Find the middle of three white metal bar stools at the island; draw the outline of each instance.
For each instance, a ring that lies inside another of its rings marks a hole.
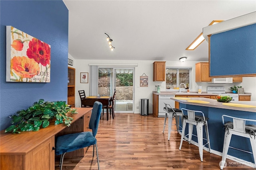
[[[211,153],[211,147],[210,147],[210,138],[209,138],[209,131],[208,131],[208,117],[204,116],[204,113],[202,111],[195,111],[195,110],[189,110],[181,108],[182,113],[184,115],[183,125],[182,125],[182,135],[180,138],[180,150],[182,147],[182,142],[184,139],[184,133],[186,129],[186,123],[188,123],[188,142],[191,142],[192,139],[192,133],[193,133],[193,126],[196,125],[196,133],[197,133],[197,139],[198,139],[198,148],[199,148],[199,154],[200,154],[200,160],[203,161],[203,147],[208,144],[209,152]],[[184,111],[187,111],[187,115],[184,114]],[[200,115],[196,115],[200,114]],[[205,132],[206,132],[206,139],[203,138],[203,126],[205,126]],[[196,136],[196,135],[195,135]],[[207,143],[203,145],[203,139],[207,140]]]

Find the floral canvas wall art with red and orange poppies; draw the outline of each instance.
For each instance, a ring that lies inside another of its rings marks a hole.
[[[6,26],[6,82],[50,82],[51,47]]]

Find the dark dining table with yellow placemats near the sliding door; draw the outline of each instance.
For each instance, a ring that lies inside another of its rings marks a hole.
[[[107,121],[108,121],[108,107],[110,106],[112,96],[86,96],[81,101],[82,106],[92,107],[94,102],[98,101],[102,103],[102,106],[107,107]]]

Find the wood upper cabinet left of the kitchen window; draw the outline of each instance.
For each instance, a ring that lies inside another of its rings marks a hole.
[[[154,73],[153,73],[153,81],[165,81],[165,61],[155,61],[154,65]]]

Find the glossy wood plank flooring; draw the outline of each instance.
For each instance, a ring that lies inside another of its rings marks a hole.
[[[203,151],[200,161],[198,147],[184,141],[179,150],[180,134],[171,132],[168,141],[168,121],[164,134],[164,118],[133,113],[116,113],[106,121],[106,114],[100,120],[96,135],[101,170],[220,170],[221,156]],[[172,123],[172,129],[176,129]],[[97,170],[96,152],[92,157],[90,147],[84,157],[64,156],[62,170]],[[59,158],[56,158],[55,170]],[[233,162],[227,160],[227,162]],[[228,170],[255,170],[239,165],[227,166]]]

